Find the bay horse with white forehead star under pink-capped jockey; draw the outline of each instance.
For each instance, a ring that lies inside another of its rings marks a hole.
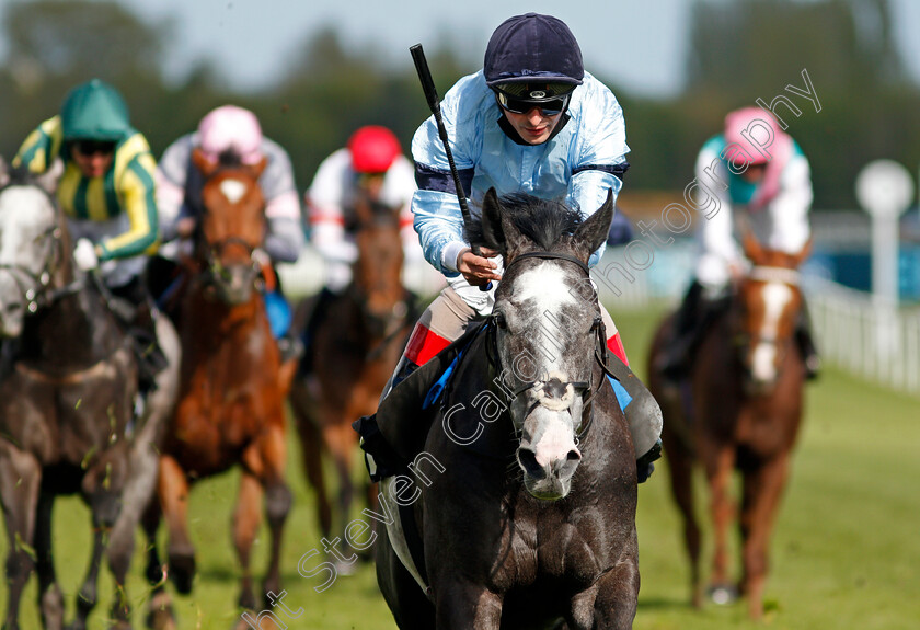
[[[263,593],[280,593],[281,530],[291,503],[284,477],[284,401],[296,363],[280,363],[256,290],[263,276],[273,277],[262,268],[260,256],[253,255],[266,232],[265,199],[258,186],[265,160],[244,165],[232,156],[221,156],[220,163],[214,164],[196,150],[193,161],[206,180],[205,211],[194,254],[184,263],[186,284],[177,297],[182,379],[158,488],[169,528],[169,576],[181,593],[191,591],[195,575],[186,523],[191,483],[239,465],[242,478],[233,514],[233,542],[243,571],[239,605],[253,610],[250,552],[261,523],[263,494],[272,535]],[[145,524],[151,546],[148,577],[158,584],[149,622],[161,628],[170,627],[172,609],[162,588],[156,548],[160,515],[154,512]]]

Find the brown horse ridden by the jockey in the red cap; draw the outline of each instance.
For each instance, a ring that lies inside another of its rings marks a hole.
[[[335,466],[336,517],[344,527],[355,494],[352,477],[358,453],[352,423],[377,410],[415,319],[401,277],[399,208],[360,198],[355,213],[358,259],[352,284],[332,298],[313,327],[312,352],[304,357],[312,368],[295,380],[290,394],[307,478],[318,495],[320,529],[327,540],[333,532],[333,509],[322,456],[331,457]],[[308,306],[303,302],[295,319],[306,319]],[[372,502],[370,489],[368,497]]]

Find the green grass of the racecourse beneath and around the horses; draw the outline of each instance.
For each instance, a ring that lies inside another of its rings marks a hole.
[[[617,313],[637,374],[659,311]],[[795,454],[792,481],[772,542],[763,625],[790,630],[908,630],[920,628],[920,400],[885,391],[827,368],[809,386],[807,413]],[[283,561],[285,604],[301,616],[289,628],[393,629],[378,594],[372,566],[340,576],[317,593],[323,579],[304,579],[298,559],[320,548],[298,455],[291,453],[289,480],[295,492]],[[688,570],[677,511],[670,503],[666,471],[640,486],[637,527],[642,591],[636,630],[720,630],[756,628],[745,606],[702,611],[687,606]],[[230,543],[234,473],[207,480],[192,494],[191,519],[198,549],[195,592],[176,597],[181,629],[227,630],[235,609],[238,569]],[[704,499],[700,515],[705,519]],[[72,594],[88,562],[89,513],[76,499],[59,501],[55,515],[56,561],[72,614]],[[5,538],[3,543],[5,554]],[[257,566],[265,564],[267,535],[258,540]],[[317,557],[319,558],[319,557]],[[314,558],[308,564],[319,563]],[[138,557],[129,597],[142,627],[147,586]],[[102,581],[104,600],[91,628],[105,628],[111,580]],[[22,627],[39,628],[35,581],[26,593]],[[5,610],[5,591],[0,595]],[[69,616],[68,616],[69,617]]]

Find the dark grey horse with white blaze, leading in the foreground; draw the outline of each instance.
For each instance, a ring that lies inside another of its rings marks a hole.
[[[469,238],[504,257],[494,310],[461,337],[421,453],[380,483],[377,575],[401,629],[632,627],[635,455],[587,266],[612,216],[611,196],[582,220],[557,202],[485,195]],[[381,433],[411,413],[390,405],[426,366],[381,402]],[[406,562],[410,530],[422,549]]]

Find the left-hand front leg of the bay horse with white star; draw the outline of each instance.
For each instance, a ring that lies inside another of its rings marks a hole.
[[[169,455],[160,457],[157,494],[169,531],[169,574],[183,595],[192,592],[195,579],[195,548],[187,525],[189,492],[188,479],[179,461]]]

